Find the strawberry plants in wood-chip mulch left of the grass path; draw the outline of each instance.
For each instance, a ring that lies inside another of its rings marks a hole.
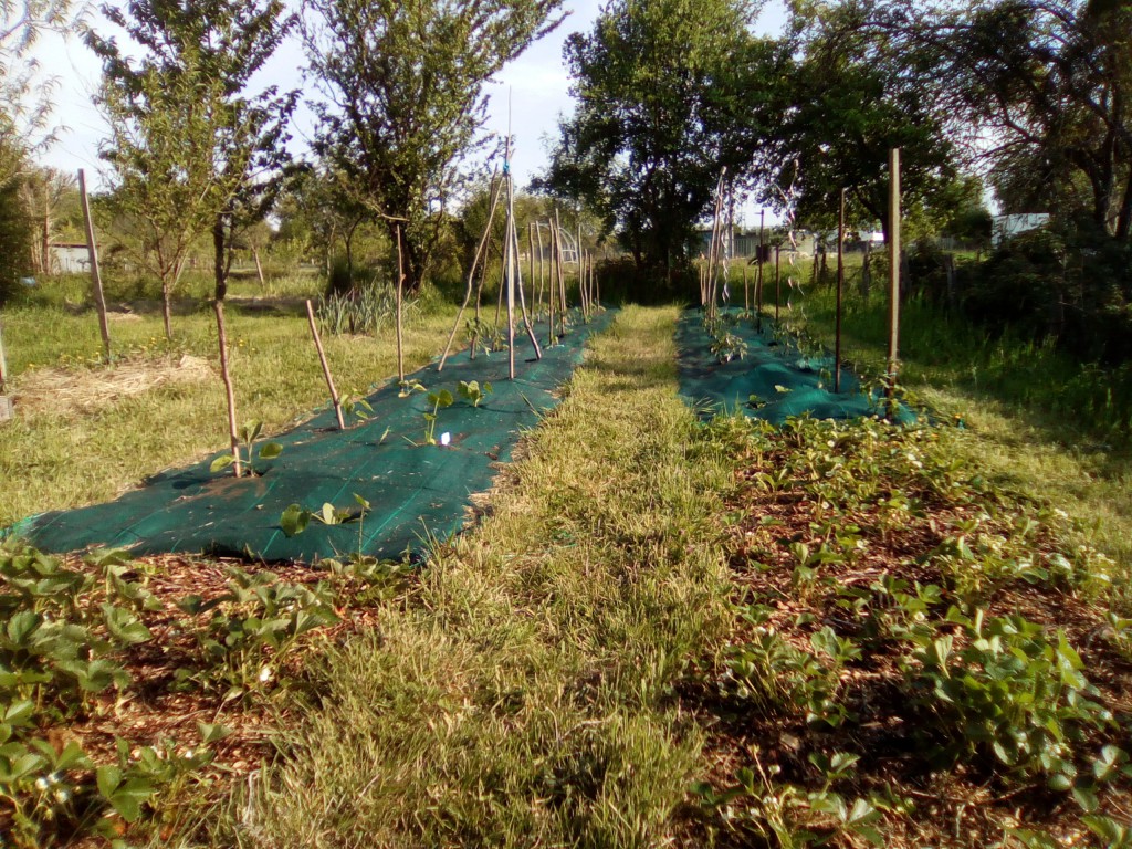
[[[366,558],[320,566],[314,584],[230,566],[220,591],[170,598],[155,589],[160,566],[120,551],[63,560],[0,547],[0,832],[50,847],[183,826],[223,780],[217,746],[232,728],[199,721],[195,739],[148,745],[72,729],[161,693],[191,694],[216,717],[295,686],[301,649],[337,609],[402,571]]]

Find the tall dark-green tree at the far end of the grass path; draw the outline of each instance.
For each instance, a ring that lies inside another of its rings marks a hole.
[[[722,170],[738,187],[753,175],[782,60],[751,33],[760,8],[615,0],[566,44],[577,106],[540,185],[584,201],[669,283]]]

